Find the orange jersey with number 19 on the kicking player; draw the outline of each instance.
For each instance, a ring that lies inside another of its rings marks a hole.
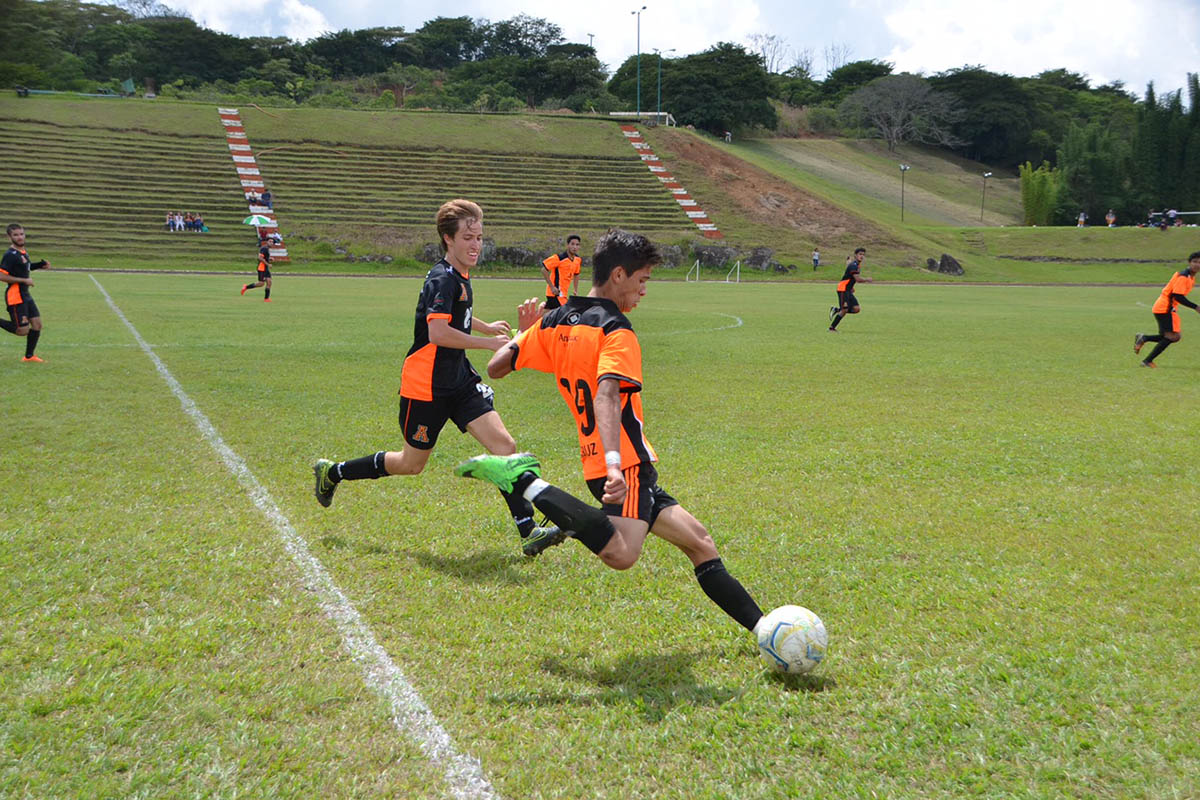
[[[642,423],[642,345],[617,303],[576,295],[514,339],[514,369],[548,372],[575,416],[583,477],[604,477],[594,398],[601,380],[620,390],[620,469],[656,462]]]

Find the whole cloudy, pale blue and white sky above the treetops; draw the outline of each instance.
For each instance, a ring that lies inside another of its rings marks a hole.
[[[848,60],[882,59],[896,71],[926,74],[978,64],[1015,76],[1056,67],[1086,74],[1092,85],[1123,80],[1139,95],[1186,85],[1200,72],[1200,0],[168,0],[209,28],[238,35],[305,41],[326,30],[403,25],[415,30],[437,16],[497,22],[527,13],[563,29],[568,41],[592,41],[616,68],[637,49],[674,49],[673,56],[719,41],[750,44],[770,34],[791,52],[808,50],[821,77],[830,49]],[[628,8],[625,7],[628,6]],[[592,37],[592,38],[589,38]]]

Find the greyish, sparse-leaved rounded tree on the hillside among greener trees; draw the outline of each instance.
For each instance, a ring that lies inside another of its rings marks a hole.
[[[950,132],[962,118],[959,101],[935,91],[917,76],[877,78],[844,100],[838,113],[845,124],[864,127],[887,142],[892,152],[905,142],[943,148],[962,144]]]

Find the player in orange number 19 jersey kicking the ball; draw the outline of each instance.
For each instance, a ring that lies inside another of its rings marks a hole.
[[[658,456],[642,429],[642,349],[625,313],[646,294],[659,260],[644,236],[610,230],[596,243],[590,293],[544,315],[527,300],[517,309],[521,332],[487,365],[492,378],[514,369],[554,375],[575,417],[583,477],[601,507],[541,480],[529,453],[478,456],[455,473],[523,495],[614,570],[634,566],[653,533],[688,557],[721,610],[754,631],[762,609],[725,569],[704,525],[659,486]]]

